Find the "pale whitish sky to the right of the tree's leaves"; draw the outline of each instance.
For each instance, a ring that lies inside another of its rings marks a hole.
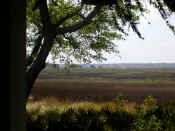
[[[170,21],[175,25],[175,16]],[[151,8],[151,13],[141,19],[138,27],[145,39],[139,39],[130,31],[127,40],[116,41],[121,58],[107,55],[105,63],[175,62],[175,34],[169,30],[156,9]]]

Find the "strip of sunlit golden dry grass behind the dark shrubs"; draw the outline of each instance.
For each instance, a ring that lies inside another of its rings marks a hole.
[[[71,108],[75,110],[79,108],[83,108],[84,110],[93,109],[95,111],[100,111],[102,108],[105,108],[105,107],[108,107],[111,110],[115,110],[116,107],[119,107],[119,106],[116,106],[117,104],[118,103],[115,100],[111,102],[97,103],[97,102],[90,102],[90,101],[75,102],[75,101],[71,101],[70,99],[66,99],[64,101],[58,101],[54,97],[47,97],[39,101],[34,101],[31,99],[30,101],[28,101],[26,109],[28,112],[37,111],[38,113],[44,113],[44,112],[53,111],[53,110],[63,112]],[[124,107],[123,109],[128,112],[133,112],[135,106],[136,106],[135,102],[123,103],[123,107]]]

